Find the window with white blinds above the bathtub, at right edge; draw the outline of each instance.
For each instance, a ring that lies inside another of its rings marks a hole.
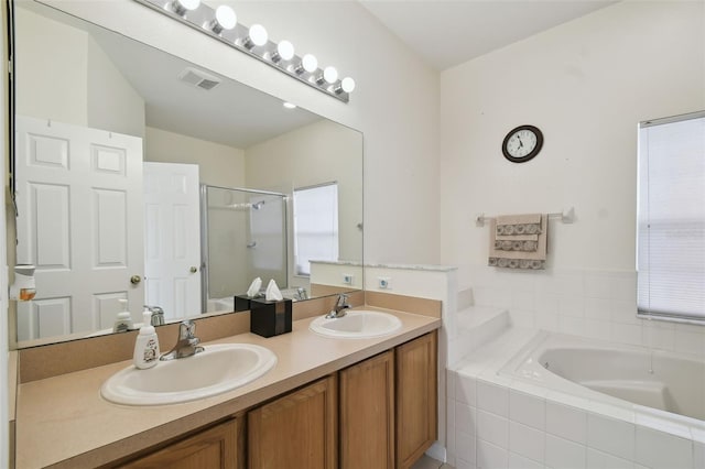
[[[639,124],[640,315],[705,320],[705,111]]]

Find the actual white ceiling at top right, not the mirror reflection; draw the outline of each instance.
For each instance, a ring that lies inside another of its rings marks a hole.
[[[437,70],[616,3],[599,0],[358,1]]]

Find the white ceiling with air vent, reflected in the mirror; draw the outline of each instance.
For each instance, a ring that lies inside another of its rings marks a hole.
[[[122,35],[94,29],[93,36],[144,99],[149,127],[247,149],[322,119]],[[186,68],[220,84],[208,91],[188,85],[178,78]]]

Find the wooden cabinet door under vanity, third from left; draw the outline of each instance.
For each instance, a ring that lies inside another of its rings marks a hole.
[[[394,467],[394,353],[340,371],[340,468]]]

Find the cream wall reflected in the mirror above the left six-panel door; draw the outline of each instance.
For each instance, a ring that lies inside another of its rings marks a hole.
[[[144,135],[144,100],[90,36],[15,9],[18,113]]]

